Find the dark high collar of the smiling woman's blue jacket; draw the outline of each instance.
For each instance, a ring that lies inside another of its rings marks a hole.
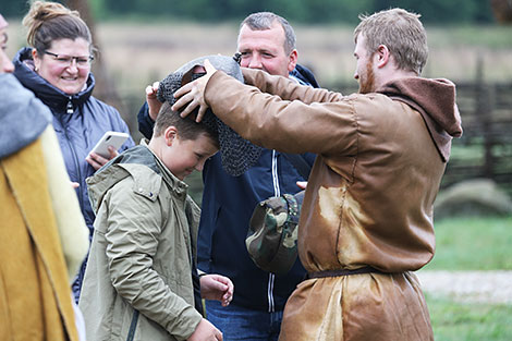
[[[93,73],[89,73],[89,77],[83,90],[74,95],[65,94],[34,71],[32,48],[28,47],[24,47],[17,51],[14,57],[14,75],[20,83],[31,89],[45,105],[58,112],[65,113],[70,100],[74,108],[82,106],[92,96],[96,84]]]

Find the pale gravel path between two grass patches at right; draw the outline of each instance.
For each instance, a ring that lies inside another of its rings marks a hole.
[[[429,271],[416,276],[425,292],[462,302],[512,304],[512,271]]]

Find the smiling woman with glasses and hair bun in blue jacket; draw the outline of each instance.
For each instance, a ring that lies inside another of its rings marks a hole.
[[[13,63],[14,75],[31,89],[52,112],[65,167],[76,188],[82,214],[93,236],[95,219],[87,196],[85,179],[118,155],[110,158],[89,154],[105,132],[129,133],[118,110],[92,96],[95,78],[90,73],[94,60],[89,28],[80,17],[57,2],[36,1],[23,19],[28,29],[27,42]],[[120,150],[134,146],[130,137]],[[73,294],[78,301],[85,261],[73,283]]]

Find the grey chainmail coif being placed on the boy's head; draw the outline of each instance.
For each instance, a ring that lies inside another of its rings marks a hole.
[[[204,64],[205,59],[208,59],[217,70],[225,72],[242,83],[244,82],[242,70],[233,58],[206,56],[187,62],[163,78],[157,93],[158,100],[169,101],[169,103],[173,105],[175,102],[173,95],[180,87],[205,75],[205,73],[192,73],[195,66]],[[197,114],[197,110],[193,114]],[[242,138],[235,131],[219,120],[209,108],[202,122],[208,129],[218,133],[220,157],[225,172],[232,176],[239,176],[256,163],[261,154],[261,147]]]

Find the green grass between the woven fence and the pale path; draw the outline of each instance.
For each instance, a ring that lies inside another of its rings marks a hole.
[[[428,270],[512,270],[512,217],[436,221]]]

